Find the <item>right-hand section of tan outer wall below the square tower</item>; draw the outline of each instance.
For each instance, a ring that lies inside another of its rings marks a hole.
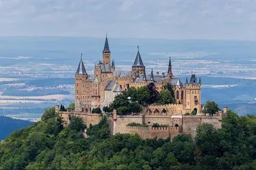
[[[195,138],[196,127],[204,123],[212,124],[214,128],[219,128],[221,121],[219,121],[218,116],[183,116],[182,132]]]

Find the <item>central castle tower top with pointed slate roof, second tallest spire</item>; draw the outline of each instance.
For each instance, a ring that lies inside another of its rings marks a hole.
[[[134,64],[132,66],[133,78],[136,78],[137,76],[141,76],[145,72],[145,66],[142,62],[142,58],[140,57],[139,45],[137,46],[137,48],[138,48],[137,55],[136,55]]]

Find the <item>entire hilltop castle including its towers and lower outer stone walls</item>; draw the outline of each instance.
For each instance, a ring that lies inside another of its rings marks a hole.
[[[202,114],[201,106],[201,78],[197,81],[195,74],[191,75],[190,81],[186,78],[182,84],[179,78],[172,73],[172,63],[169,59],[167,74],[146,74],[145,65],[140,56],[139,46],[131,71],[116,71],[114,61],[111,60],[109,42],[106,36],[102,59],[94,66],[94,76],[90,77],[83,64],[81,57],[76,71],[75,85],[75,111],[60,112],[59,106],[55,111],[59,112],[64,120],[64,125],[70,124],[72,116],[78,116],[88,125],[99,124],[103,114],[92,113],[94,108],[103,109],[114,101],[115,96],[129,88],[139,88],[154,83],[156,90],[161,91],[165,85],[173,85],[176,104],[143,106],[140,113],[119,115],[114,109],[109,117],[110,134],[139,134],[142,138],[173,138],[180,133],[195,136],[196,126],[209,123],[215,128],[221,128],[222,114],[227,114],[227,108],[213,116]],[[191,114],[194,111],[196,115]],[[143,126],[130,126],[136,123]],[[154,124],[165,125],[153,127]]]

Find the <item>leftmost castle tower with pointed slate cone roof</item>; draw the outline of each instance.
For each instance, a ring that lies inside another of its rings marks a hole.
[[[77,67],[77,72],[75,74],[76,78],[76,86],[75,86],[75,91],[76,91],[76,110],[80,110],[80,99],[82,99],[84,95],[83,91],[83,82],[88,79],[88,74],[86,72],[86,68],[84,68],[84,63],[82,59],[82,54],[81,54],[81,59]]]

